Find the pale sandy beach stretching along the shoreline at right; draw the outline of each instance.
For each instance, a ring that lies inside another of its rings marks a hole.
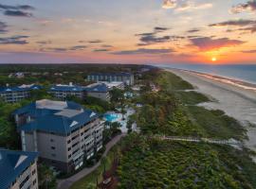
[[[245,145],[256,151],[256,127],[249,127],[248,123],[256,125],[256,91],[247,86],[229,83],[229,79],[212,78],[210,75],[202,75],[177,69],[168,69],[175,75],[192,83],[196,91],[210,96],[214,102],[200,104],[208,109],[218,109],[234,117],[247,129],[248,141]],[[239,82],[238,82],[239,83]]]

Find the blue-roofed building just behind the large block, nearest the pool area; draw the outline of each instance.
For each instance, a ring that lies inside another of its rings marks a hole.
[[[85,93],[88,96],[97,97],[104,101],[110,100],[110,89],[104,83],[94,83],[85,87]]]

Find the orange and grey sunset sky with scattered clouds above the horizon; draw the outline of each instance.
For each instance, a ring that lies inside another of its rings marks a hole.
[[[256,63],[256,0],[1,0],[0,63]]]

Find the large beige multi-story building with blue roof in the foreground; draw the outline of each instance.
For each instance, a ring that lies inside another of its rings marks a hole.
[[[23,150],[69,172],[102,147],[103,121],[97,112],[71,101],[39,100],[14,113]]]

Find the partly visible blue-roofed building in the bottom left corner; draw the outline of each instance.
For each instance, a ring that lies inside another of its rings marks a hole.
[[[0,188],[38,189],[37,152],[0,148]]]

